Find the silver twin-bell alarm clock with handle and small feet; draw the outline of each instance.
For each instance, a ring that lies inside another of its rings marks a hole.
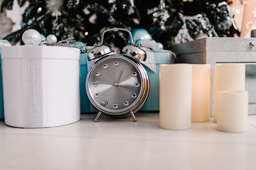
[[[131,44],[126,45],[121,52],[114,53],[110,47],[103,44],[107,31],[121,30],[129,33]],[[90,67],[85,88],[92,105],[99,110],[94,121],[101,114],[114,118],[132,116],[148,98],[150,84],[148,75],[139,60],[146,60],[146,52],[135,45],[128,29],[113,28],[103,31],[101,42],[88,51],[88,61],[95,60]]]

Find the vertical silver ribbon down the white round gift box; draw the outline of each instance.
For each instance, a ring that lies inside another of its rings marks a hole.
[[[43,128],[43,48],[24,46],[22,58],[24,128]]]

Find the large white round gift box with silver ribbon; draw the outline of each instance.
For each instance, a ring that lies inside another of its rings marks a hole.
[[[1,60],[5,124],[45,128],[80,120],[80,49],[3,47]]]

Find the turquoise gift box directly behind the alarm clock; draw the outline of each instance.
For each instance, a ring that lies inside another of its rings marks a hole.
[[[148,99],[139,111],[158,111],[159,110],[159,65],[173,64],[174,56],[166,52],[154,52],[156,72],[144,66],[150,81],[150,91]],[[85,90],[85,79],[88,73],[87,54],[80,55],[80,98],[81,113],[91,112],[90,101]]]

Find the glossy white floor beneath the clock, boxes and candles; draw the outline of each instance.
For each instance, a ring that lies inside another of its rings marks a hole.
[[[159,113],[112,119],[82,114],[54,128],[0,121],[0,170],[255,170],[256,115],[248,131],[216,130],[213,118],[189,130],[159,128]]]

